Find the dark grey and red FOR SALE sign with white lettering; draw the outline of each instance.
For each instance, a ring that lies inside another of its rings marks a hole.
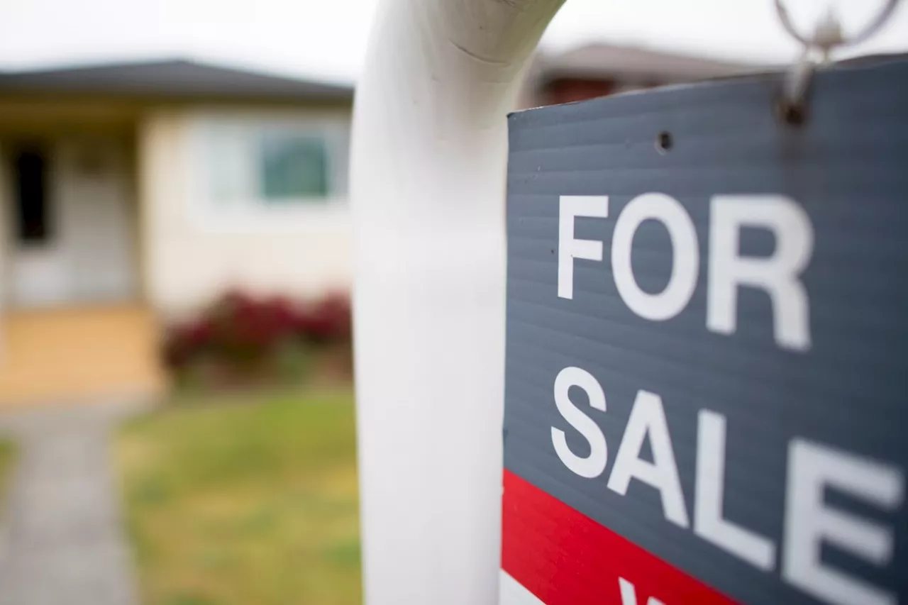
[[[510,116],[502,605],[908,604],[908,61]]]

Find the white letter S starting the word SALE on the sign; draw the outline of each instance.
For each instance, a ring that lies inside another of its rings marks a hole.
[[[565,432],[555,427],[552,427],[552,443],[555,445],[558,458],[568,469],[581,477],[598,477],[606,470],[608,461],[606,436],[593,419],[580,412],[580,409],[570,401],[568,391],[572,386],[579,387],[587,393],[590,407],[600,412],[606,411],[606,394],[602,392],[602,387],[591,373],[580,368],[565,368],[558,372],[555,379],[555,405],[564,419],[587,439],[589,455],[584,458],[570,451]]]

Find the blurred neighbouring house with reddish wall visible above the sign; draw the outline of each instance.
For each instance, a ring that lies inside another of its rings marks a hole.
[[[539,53],[520,94],[521,108],[583,101],[607,94],[765,70],[663,51],[591,44],[559,55]]]

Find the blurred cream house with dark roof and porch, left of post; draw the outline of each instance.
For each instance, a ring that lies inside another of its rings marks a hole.
[[[350,283],[352,89],[173,61],[0,74],[0,404],[155,392],[158,322]]]

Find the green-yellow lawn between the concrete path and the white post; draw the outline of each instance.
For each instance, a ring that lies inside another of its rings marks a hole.
[[[143,605],[355,605],[350,392],[183,402],[116,442]]]

